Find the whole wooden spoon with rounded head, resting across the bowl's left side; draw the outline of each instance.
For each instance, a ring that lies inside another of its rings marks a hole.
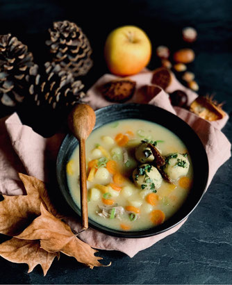
[[[96,116],[93,109],[86,104],[74,106],[68,116],[67,123],[70,131],[79,142],[80,186],[81,186],[81,216],[83,230],[88,229],[88,199],[86,185],[85,140],[90,136]]]

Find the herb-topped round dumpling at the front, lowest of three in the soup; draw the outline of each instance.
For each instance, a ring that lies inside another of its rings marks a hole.
[[[133,171],[133,180],[141,189],[156,190],[160,188],[163,179],[153,165],[142,164]]]

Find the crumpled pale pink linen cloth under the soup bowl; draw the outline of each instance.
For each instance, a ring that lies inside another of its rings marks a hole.
[[[140,88],[143,85],[150,84],[151,76],[151,72],[142,72],[131,76],[131,79],[136,81],[137,88],[134,97],[130,101],[144,103]],[[172,84],[169,86],[168,92],[173,92],[177,89],[184,90],[188,95],[188,104],[190,104],[198,95],[192,92],[192,90],[182,86],[181,83],[175,79],[174,75],[172,76]],[[90,88],[88,91],[88,101],[90,101],[92,108],[97,109],[111,104],[101,97],[99,87],[103,83],[115,78],[117,77],[111,74],[105,74]],[[160,106],[178,115],[196,131],[208,154],[210,165],[209,185],[217,169],[231,156],[231,144],[222,131],[220,131],[220,129],[224,127],[224,124],[226,124],[228,116],[222,120],[208,122],[183,108],[173,108],[167,93],[163,90],[161,90],[156,97],[151,99],[149,104]],[[16,113],[8,118],[1,119],[0,193],[4,195],[22,195],[24,193],[24,187],[19,181],[18,172],[37,177],[42,181],[51,180],[51,177],[53,177],[56,171],[56,156],[63,138],[64,134],[62,133],[57,133],[51,138],[43,138],[38,133],[35,133],[31,127],[23,125]],[[94,248],[119,250],[128,254],[129,257],[133,257],[140,250],[144,250],[154,245],[157,241],[160,241],[160,239],[165,238],[165,236],[173,234],[183,225],[185,220],[165,233],[149,238],[115,238],[102,234],[94,229],[83,231],[78,236]],[[67,216],[65,221],[75,231],[81,229],[81,225],[78,224],[74,217]]]

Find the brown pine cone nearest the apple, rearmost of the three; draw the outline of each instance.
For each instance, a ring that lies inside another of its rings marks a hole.
[[[69,21],[54,22],[49,33],[51,40],[46,44],[53,54],[53,61],[74,76],[87,74],[92,67],[92,49],[81,28]]]

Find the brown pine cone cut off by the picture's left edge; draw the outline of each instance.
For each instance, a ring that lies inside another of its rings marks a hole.
[[[0,35],[0,99],[6,106],[15,106],[24,99],[25,77],[33,67],[33,55],[17,38]]]

